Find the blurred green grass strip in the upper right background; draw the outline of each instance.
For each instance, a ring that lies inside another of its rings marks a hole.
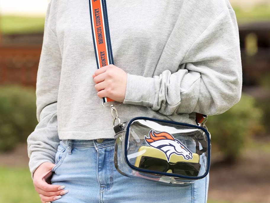
[[[238,22],[269,21],[269,4],[257,4],[251,8],[232,6]]]

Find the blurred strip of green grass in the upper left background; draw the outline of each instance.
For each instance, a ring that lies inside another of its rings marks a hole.
[[[2,34],[40,33],[44,31],[44,17],[4,15],[0,18]]]

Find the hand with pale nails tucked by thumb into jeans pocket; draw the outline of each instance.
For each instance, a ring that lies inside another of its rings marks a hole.
[[[41,202],[52,202],[60,199],[61,195],[68,193],[68,190],[63,190],[65,186],[51,185],[52,168],[55,164],[44,162],[34,172],[33,183],[35,190],[38,192]]]

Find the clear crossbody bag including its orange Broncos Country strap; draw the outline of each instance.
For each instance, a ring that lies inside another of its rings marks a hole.
[[[90,0],[89,5],[97,67],[102,68],[114,64],[106,1]],[[194,183],[208,174],[210,133],[205,122],[200,124],[207,116],[197,114],[198,126],[148,117],[121,123],[115,108],[120,104],[105,105],[112,101],[103,98],[102,105],[111,107],[119,173],[173,186]]]

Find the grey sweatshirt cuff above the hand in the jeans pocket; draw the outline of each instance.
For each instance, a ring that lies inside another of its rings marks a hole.
[[[44,162],[50,162],[50,163],[55,163],[54,160],[49,159],[46,155],[42,156],[40,152],[32,152],[30,160],[29,160],[29,169],[31,172],[31,177],[33,179],[34,172]]]

